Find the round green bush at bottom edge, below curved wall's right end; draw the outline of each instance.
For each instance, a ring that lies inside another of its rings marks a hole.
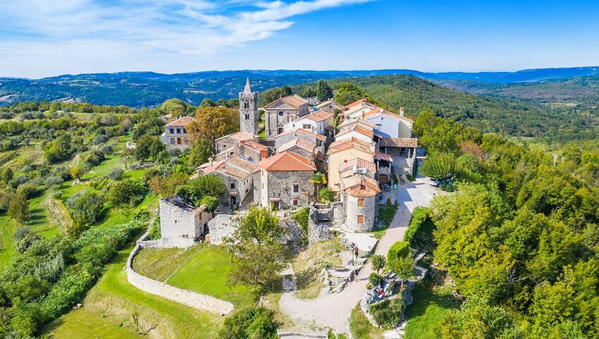
[[[228,316],[218,333],[221,339],[278,338],[274,312],[265,307],[250,307]]]

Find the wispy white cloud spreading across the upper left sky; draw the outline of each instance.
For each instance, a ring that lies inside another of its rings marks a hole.
[[[215,57],[287,29],[294,16],[368,1],[2,1],[0,75],[20,59],[39,63],[49,56],[79,62],[105,54],[113,62],[147,54]]]

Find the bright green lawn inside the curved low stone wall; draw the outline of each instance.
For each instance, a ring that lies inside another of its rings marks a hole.
[[[237,307],[254,304],[255,297],[249,288],[228,285],[227,276],[235,263],[231,264],[231,256],[224,247],[204,243],[187,250],[190,259],[181,264],[166,283],[228,300]]]

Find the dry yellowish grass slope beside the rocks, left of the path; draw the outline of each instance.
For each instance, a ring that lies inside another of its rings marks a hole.
[[[314,299],[318,297],[322,282],[319,275],[325,266],[341,266],[339,254],[344,251],[339,238],[316,242],[300,254],[292,262],[293,271],[297,278],[296,296],[300,299]]]

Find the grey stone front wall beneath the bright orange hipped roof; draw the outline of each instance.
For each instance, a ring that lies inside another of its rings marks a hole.
[[[294,198],[297,207],[307,206],[314,192],[314,184],[310,183],[311,171],[268,171],[267,197],[280,199],[279,209],[290,209]],[[298,192],[293,192],[293,185],[299,185]],[[302,194],[308,192],[308,195]]]

